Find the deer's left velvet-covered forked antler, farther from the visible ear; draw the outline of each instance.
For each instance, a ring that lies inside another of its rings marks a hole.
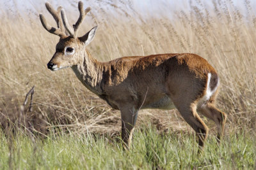
[[[45,20],[45,17],[42,13],[40,13],[40,20],[42,22],[43,27],[48,31],[51,32],[52,34],[55,34],[57,36],[66,36],[65,34],[65,28],[63,26],[63,22],[61,20],[60,17],[60,10],[61,10],[61,6],[58,7],[57,11],[54,10],[51,6],[51,4],[49,3],[45,3],[45,6],[47,8],[47,10],[49,11],[49,13],[51,13],[52,17],[54,18],[54,20],[57,22],[57,29],[54,27],[51,27],[50,25],[47,24],[47,21]]]

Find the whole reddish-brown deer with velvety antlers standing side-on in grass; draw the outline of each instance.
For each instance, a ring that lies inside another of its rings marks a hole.
[[[40,13],[43,27],[60,36],[56,52],[48,62],[51,71],[67,67],[83,85],[115,110],[120,110],[124,149],[131,145],[138,111],[143,109],[177,109],[196,133],[198,148],[203,149],[209,128],[198,115],[213,120],[220,139],[227,114],[216,108],[220,78],[216,70],[193,53],[163,53],[148,56],[120,57],[99,62],[86,50],[95,37],[97,26],[81,37],[77,31],[90,7],[84,10],[79,1],[79,18],[71,27],[63,8],[57,10],[45,3],[57,27],[47,24]]]

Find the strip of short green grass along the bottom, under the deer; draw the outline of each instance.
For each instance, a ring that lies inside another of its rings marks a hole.
[[[33,141],[2,133],[0,169],[253,169],[255,139],[255,134],[234,132],[218,144],[210,135],[198,155],[192,133],[158,134],[151,126],[134,132],[129,151],[118,137],[72,133]]]

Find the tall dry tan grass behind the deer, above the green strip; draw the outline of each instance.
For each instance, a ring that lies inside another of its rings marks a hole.
[[[134,10],[131,1],[97,1],[79,34],[99,25],[88,50],[100,61],[154,53],[189,52],[204,57],[220,74],[217,104],[228,113],[228,129],[255,132],[256,17],[250,1],[244,1],[246,13],[231,0],[211,3],[213,8],[195,1],[189,11],[173,11],[172,17],[161,11],[163,6],[166,9],[166,3],[159,3],[159,14],[154,17]],[[26,112],[22,117],[31,131],[120,131],[118,111],[111,110],[83,87],[71,69],[54,73],[47,69],[58,36],[42,27],[37,16],[40,11],[17,13],[15,6],[8,8],[7,14],[2,9],[0,20],[1,125],[17,124],[20,104],[35,85],[33,112]],[[74,13],[67,15],[70,23],[74,23],[77,9],[70,8]],[[55,24],[45,7],[40,9]],[[188,128],[176,110],[141,111],[138,123],[148,121],[161,130]]]

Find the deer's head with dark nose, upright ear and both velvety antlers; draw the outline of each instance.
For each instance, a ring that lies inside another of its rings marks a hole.
[[[57,10],[54,10],[49,3],[45,3],[45,6],[57,22],[57,28],[48,25],[44,15],[40,13],[42,25],[48,32],[60,36],[60,41],[56,45],[56,52],[48,62],[47,67],[51,69],[51,71],[57,71],[59,69],[77,65],[83,60],[85,46],[93,40],[97,29],[97,26],[95,26],[89,32],[84,34],[84,36],[77,38],[77,31],[91,8],[88,7],[86,10],[83,10],[83,3],[79,1],[78,9],[80,15],[72,28],[68,24],[65,10],[61,8],[61,6],[59,6]]]

